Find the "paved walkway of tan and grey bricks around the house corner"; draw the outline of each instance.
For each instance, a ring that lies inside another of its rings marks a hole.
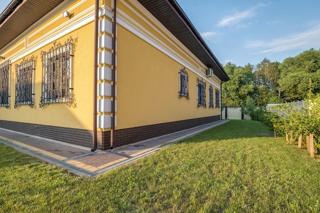
[[[0,128],[0,143],[66,168],[76,175],[94,177],[226,122],[226,120],[213,122],[106,151],[91,152],[90,148],[2,128]]]

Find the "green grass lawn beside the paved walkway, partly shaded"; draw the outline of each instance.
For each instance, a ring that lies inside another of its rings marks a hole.
[[[0,212],[319,212],[320,165],[230,121],[96,178],[0,144]]]

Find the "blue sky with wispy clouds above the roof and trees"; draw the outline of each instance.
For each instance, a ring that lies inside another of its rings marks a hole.
[[[222,64],[282,62],[320,49],[318,0],[176,0]],[[0,0],[4,11],[11,0]]]

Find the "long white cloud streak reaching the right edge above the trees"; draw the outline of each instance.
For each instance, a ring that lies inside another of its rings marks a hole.
[[[258,53],[282,52],[294,49],[309,49],[320,46],[320,23],[305,32],[287,35],[271,41],[247,41],[246,48],[263,48]]]

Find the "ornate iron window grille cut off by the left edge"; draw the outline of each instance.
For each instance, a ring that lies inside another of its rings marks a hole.
[[[9,108],[10,60],[0,65],[0,106]]]

